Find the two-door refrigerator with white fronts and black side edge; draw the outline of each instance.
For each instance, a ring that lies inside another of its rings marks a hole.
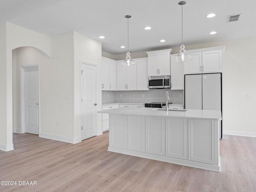
[[[185,109],[222,110],[221,73],[192,74],[185,75],[184,78]]]

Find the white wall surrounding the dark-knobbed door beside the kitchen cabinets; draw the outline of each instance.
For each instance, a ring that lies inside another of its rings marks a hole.
[[[80,126],[80,62],[97,65],[98,100],[97,108],[101,106],[101,42],[74,32],[74,127],[75,137],[81,137]],[[97,114],[97,135],[102,134],[102,115]]]

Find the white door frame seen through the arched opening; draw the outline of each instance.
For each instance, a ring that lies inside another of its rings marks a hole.
[[[40,136],[40,70],[39,64],[20,66],[20,133],[25,133],[25,72],[38,72],[38,136]]]

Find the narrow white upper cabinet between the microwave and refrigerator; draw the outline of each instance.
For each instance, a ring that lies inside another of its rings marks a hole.
[[[171,90],[184,89],[184,63],[175,62],[171,56]]]

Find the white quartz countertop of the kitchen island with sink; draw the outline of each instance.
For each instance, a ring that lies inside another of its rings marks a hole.
[[[156,110],[157,108],[132,108],[123,107],[109,110],[98,111],[98,113],[123,114],[123,115],[142,115],[156,117],[174,117],[188,119],[205,119],[205,120],[222,120],[220,110],[194,110],[187,111],[164,111]]]

